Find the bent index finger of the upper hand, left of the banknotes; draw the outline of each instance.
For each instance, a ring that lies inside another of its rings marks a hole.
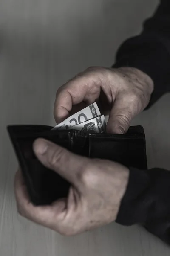
[[[85,71],[68,81],[56,93],[54,118],[57,123],[64,121],[70,114],[73,105],[85,102],[90,105],[100,94],[100,80],[93,72]]]

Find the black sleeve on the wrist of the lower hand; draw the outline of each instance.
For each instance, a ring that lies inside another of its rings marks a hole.
[[[130,168],[116,222],[126,226],[142,224],[170,244],[170,172]]]

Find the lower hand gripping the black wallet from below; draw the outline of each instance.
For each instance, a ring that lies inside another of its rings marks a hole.
[[[68,198],[34,207],[21,172],[17,172],[15,195],[21,215],[67,236],[116,219],[128,182],[126,167],[108,160],[80,157],[44,139],[35,141],[34,152],[42,164],[72,185]]]

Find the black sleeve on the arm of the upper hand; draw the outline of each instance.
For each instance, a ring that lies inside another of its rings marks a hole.
[[[154,91],[147,108],[170,92],[170,0],[161,1],[140,35],[122,44],[113,67],[135,67],[153,79]]]

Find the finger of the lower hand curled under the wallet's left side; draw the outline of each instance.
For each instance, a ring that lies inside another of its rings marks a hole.
[[[15,176],[14,188],[18,212],[23,217],[59,231],[59,223],[66,208],[66,199],[58,200],[50,206],[35,207],[29,200],[21,172],[17,172]]]

